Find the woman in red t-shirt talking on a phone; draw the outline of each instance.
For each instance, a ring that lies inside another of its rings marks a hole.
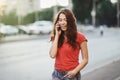
[[[80,80],[80,71],[88,63],[87,39],[77,32],[75,17],[70,10],[59,11],[54,21],[51,41],[49,54],[51,58],[55,58],[52,80]]]

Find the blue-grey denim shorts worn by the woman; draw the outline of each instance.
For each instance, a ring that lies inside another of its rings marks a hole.
[[[57,69],[54,69],[52,73],[52,80],[81,80],[81,74],[80,72],[76,74],[74,78],[67,78],[64,77],[64,75],[67,74],[65,71],[59,71]]]

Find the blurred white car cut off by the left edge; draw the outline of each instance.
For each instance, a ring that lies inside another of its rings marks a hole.
[[[17,34],[19,30],[16,27],[10,25],[3,25],[0,27],[0,33],[5,35]]]

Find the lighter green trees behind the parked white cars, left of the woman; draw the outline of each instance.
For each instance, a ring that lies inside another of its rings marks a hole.
[[[58,10],[63,8],[61,6],[57,6]],[[26,16],[21,16],[21,24],[29,24],[29,23],[33,23],[35,22],[37,19],[38,20],[53,20],[53,8],[46,8],[37,12],[32,12],[27,14]],[[36,19],[36,13],[37,15],[37,19]],[[6,25],[18,25],[18,16],[16,15],[15,11],[10,12],[7,15],[4,16],[0,16],[0,20],[2,23],[6,24]]]

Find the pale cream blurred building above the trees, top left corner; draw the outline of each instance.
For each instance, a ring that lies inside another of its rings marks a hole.
[[[40,0],[1,0],[1,4],[6,5],[6,14],[16,11],[17,15],[24,16],[40,10]]]

